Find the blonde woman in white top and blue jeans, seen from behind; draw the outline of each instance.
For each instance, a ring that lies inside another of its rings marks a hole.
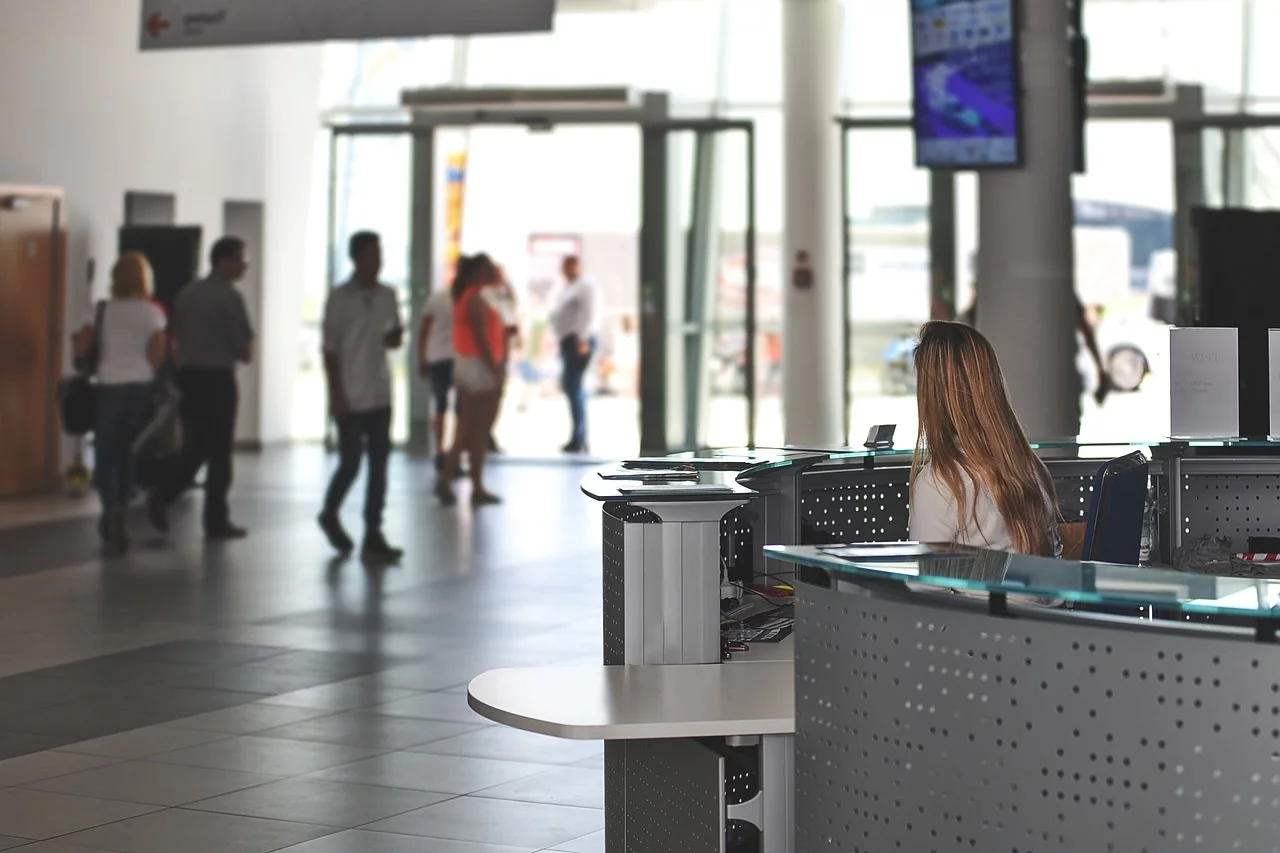
[[[124,511],[137,485],[133,442],[147,425],[156,370],[165,360],[165,318],[151,301],[151,265],[137,252],[111,269],[111,298],[101,329],[77,333],[78,356],[97,341],[97,421],[93,429],[93,485],[102,501],[100,530],[105,551],[128,551]]]

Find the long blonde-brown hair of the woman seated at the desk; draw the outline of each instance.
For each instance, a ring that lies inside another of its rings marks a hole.
[[[965,503],[961,473],[996,502],[1014,549],[1048,555],[1057,500],[1048,469],[1036,456],[1009,403],[996,351],[963,323],[932,321],[915,348],[915,396],[920,433],[911,461],[911,489],[920,470],[956,496],[956,521],[978,524],[978,491]]]

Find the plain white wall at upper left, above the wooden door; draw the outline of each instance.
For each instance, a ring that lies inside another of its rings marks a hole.
[[[138,5],[0,0],[0,183],[67,190],[77,324],[88,259],[105,288],[125,190],[175,193],[178,223],[202,225],[206,250],[225,200],[265,202],[261,392],[243,405],[262,441],[287,438],[302,283],[317,274],[314,259],[323,266],[312,210],[323,47],[143,55]]]

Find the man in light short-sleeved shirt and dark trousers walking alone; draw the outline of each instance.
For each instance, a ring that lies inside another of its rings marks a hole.
[[[355,543],[339,512],[369,455],[365,492],[365,539],[361,555],[394,562],[403,551],[383,535],[387,505],[387,462],[392,452],[392,374],[388,350],[404,339],[396,291],[378,280],[383,246],[378,234],[362,231],[348,245],[352,275],[329,292],[324,311],[324,369],[329,379],[329,414],[338,428],[338,470],[320,512],[320,529],[334,551],[351,553]]]

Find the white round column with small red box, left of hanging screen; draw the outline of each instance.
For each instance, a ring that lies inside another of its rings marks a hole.
[[[786,186],[782,412],[791,444],[844,444],[840,336],[840,3],[783,0]],[[797,256],[812,284],[792,279]]]

